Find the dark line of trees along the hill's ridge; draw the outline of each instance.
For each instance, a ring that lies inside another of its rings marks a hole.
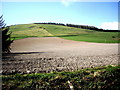
[[[75,28],[89,29],[89,30],[103,31],[103,32],[120,32],[119,30],[105,30],[105,29],[97,28],[95,26],[88,26],[88,25],[63,24],[63,23],[53,23],[53,22],[34,23],[34,24],[61,25],[61,26],[68,26],[68,27],[75,27]]]

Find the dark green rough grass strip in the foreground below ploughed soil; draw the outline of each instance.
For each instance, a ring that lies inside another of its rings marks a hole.
[[[2,76],[2,90],[120,89],[120,65],[74,72],[15,74]]]

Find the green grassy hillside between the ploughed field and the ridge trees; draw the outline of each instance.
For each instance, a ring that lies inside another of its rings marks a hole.
[[[21,24],[12,25],[11,37],[22,39],[27,37],[61,37],[75,41],[97,43],[118,43],[118,32],[99,32],[74,27],[48,24]]]

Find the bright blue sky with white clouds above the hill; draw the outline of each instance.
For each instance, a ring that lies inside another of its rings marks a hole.
[[[2,2],[7,25],[56,22],[118,29],[118,2]]]

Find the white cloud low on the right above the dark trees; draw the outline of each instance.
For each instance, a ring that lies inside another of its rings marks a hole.
[[[118,30],[118,22],[104,22],[101,24],[101,26],[99,28]]]

